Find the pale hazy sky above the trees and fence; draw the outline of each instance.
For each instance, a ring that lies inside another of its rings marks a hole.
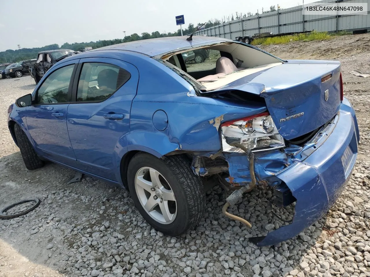
[[[313,0],[305,0],[306,3]],[[43,47],[65,42],[90,42],[159,31],[174,32],[175,16],[189,23],[204,23],[238,13],[261,13],[262,7],[281,8],[302,0],[17,0],[0,1],[0,51]]]

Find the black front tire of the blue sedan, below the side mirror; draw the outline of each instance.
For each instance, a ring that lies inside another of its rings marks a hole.
[[[14,133],[26,168],[28,170],[33,170],[43,167],[44,162],[37,156],[33,146],[28,140],[28,137],[18,124],[14,125]]]

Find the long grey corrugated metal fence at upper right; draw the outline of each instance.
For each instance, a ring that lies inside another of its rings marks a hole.
[[[259,33],[284,34],[302,31],[353,31],[370,29],[370,0],[344,0],[341,3],[367,3],[366,15],[346,16],[303,16],[302,6],[286,8],[257,16],[244,17],[230,22],[200,30],[195,35],[208,35],[235,40],[242,35]],[[315,3],[336,3],[334,0],[323,0]]]

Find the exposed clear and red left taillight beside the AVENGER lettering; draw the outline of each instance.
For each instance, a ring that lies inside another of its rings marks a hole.
[[[234,141],[252,151],[285,146],[284,139],[277,131],[268,112],[222,123],[221,140],[224,152],[243,152],[240,148],[230,145]]]

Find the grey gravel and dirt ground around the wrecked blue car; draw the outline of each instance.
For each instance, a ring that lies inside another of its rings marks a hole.
[[[344,39],[358,38],[363,45],[370,35],[340,37],[325,45],[332,49]],[[291,43],[274,54],[293,58],[299,48],[307,57],[296,57],[325,59],[320,41]],[[252,229],[222,215],[227,195],[215,187],[206,194],[199,226],[176,238],[152,229],[123,189],[90,177],[67,184],[74,172],[51,163],[26,170],[7,130],[6,109],[31,92],[34,82],[29,76],[0,80],[0,206],[30,197],[42,201],[27,215],[0,220],[0,276],[370,276],[370,78],[348,73],[370,72],[370,48],[361,53],[341,49],[336,57],[328,51],[327,58],[342,61],[345,96],[357,112],[361,142],[356,168],[327,215],[297,237],[262,248],[248,237],[282,225],[265,200],[271,193],[263,188],[230,208],[249,220]],[[284,219],[292,212],[293,207],[275,211]]]

